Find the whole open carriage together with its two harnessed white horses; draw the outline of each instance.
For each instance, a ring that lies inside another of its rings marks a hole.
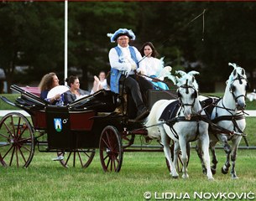
[[[39,151],[56,152],[64,167],[68,167],[69,164],[75,166],[78,162],[86,168],[91,163],[95,150],[99,148],[103,170],[119,172],[123,152],[164,150],[172,176],[178,177],[175,168],[179,165],[177,162],[181,162],[181,165],[185,164],[182,165],[182,177],[187,178],[189,142],[197,140],[196,151],[201,159],[203,172],[209,179],[212,179],[212,173],[216,172],[217,142],[223,143],[227,153],[222,173],[228,172],[232,160],[232,178],[237,178],[234,167],[239,142],[245,136],[243,110],[248,80],[243,68],[236,64],[230,65],[234,70],[227,81],[222,99],[211,99],[210,103],[199,101],[198,85],[195,84],[193,74],[184,72],[185,76],[181,77],[177,84],[177,94],[174,91],[159,91],[165,95],[165,100],[161,101],[158,100],[163,98],[163,94],[158,98],[151,95],[154,101],[148,103],[150,107],[157,102],[146,121],[131,120],[128,117],[129,104],[123,104],[123,94],[118,95],[110,90],[99,90],[68,106],[49,106],[37,95],[13,85],[12,90],[18,91],[21,96],[14,103],[5,97],[1,99],[27,111],[33,126],[27,117],[20,113],[12,112],[3,116],[0,121],[0,162],[3,166],[16,164],[28,167],[34,156],[35,145],[44,145],[45,149],[42,150],[39,146]],[[169,108],[170,105],[177,106],[178,110]],[[117,110],[118,106],[121,106],[121,111]],[[212,111],[207,114],[206,109],[209,109],[209,106],[212,107]],[[167,115],[167,118],[163,114]],[[154,150],[144,149],[142,146],[133,147],[135,136],[148,140],[154,138],[154,134],[160,137],[159,142],[163,147]],[[172,146],[171,140],[175,142]],[[228,141],[232,141],[232,147],[228,145]],[[209,146],[213,157],[212,167]],[[170,147],[173,152],[170,152]]]

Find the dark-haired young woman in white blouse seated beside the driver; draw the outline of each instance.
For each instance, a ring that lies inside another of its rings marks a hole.
[[[141,60],[141,67],[138,71],[142,75],[148,76],[147,80],[150,80],[155,85],[156,90],[169,90],[168,85],[159,80],[164,80],[164,77],[159,77],[161,70],[164,68],[164,62],[162,59],[157,59],[158,52],[154,48],[151,42],[146,42],[140,49],[140,54],[144,57]],[[151,78],[149,78],[151,77]],[[155,80],[157,78],[158,80]]]

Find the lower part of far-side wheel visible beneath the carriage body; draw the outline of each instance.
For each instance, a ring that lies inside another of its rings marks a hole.
[[[64,157],[60,160],[60,164],[64,168],[76,167],[80,165],[81,168],[87,168],[93,157],[95,156],[95,149],[77,149],[72,152],[57,152],[57,157]]]

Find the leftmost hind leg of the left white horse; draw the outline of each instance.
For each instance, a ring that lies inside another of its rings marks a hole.
[[[167,136],[163,126],[159,126],[159,131],[161,133],[161,141],[164,146],[165,157],[168,160],[169,165],[170,165],[170,174],[172,175],[172,178],[179,178],[179,174],[177,173],[176,168],[171,159],[170,138]]]

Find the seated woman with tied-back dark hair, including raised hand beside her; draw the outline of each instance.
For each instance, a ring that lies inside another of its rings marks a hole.
[[[64,94],[65,104],[69,104],[73,101],[81,99],[86,95],[91,95],[100,88],[100,81],[98,80],[97,76],[94,76],[94,82],[91,92],[80,89],[80,82],[77,76],[71,75],[69,78],[66,78],[65,81],[70,87],[70,90],[66,91]]]

